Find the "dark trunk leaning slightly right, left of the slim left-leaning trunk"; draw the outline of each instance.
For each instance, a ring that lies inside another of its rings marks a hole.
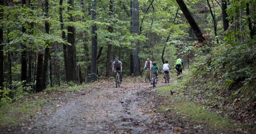
[[[45,0],[45,4],[44,4],[44,12],[45,12],[45,16],[48,17],[49,16],[49,2],[48,0]],[[49,22],[48,20],[45,20],[44,22],[45,25],[45,32],[47,34],[49,34]],[[43,63],[43,76],[42,76],[42,90],[44,90],[47,86],[47,76],[48,76],[48,66],[49,66],[49,43],[46,44],[46,48],[44,50],[44,63]]]

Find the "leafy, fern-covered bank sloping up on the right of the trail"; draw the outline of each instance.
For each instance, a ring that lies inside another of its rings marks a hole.
[[[255,64],[256,41],[221,43],[195,58],[184,92],[190,100],[255,128]]]

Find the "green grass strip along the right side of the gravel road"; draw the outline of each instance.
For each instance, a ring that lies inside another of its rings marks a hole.
[[[160,112],[165,112],[167,108],[173,113],[178,113],[183,117],[184,120],[189,118],[193,122],[201,123],[206,125],[208,128],[217,129],[234,129],[234,128],[244,128],[245,125],[236,123],[234,120],[223,117],[215,112],[204,109],[204,106],[198,105],[194,102],[187,100],[183,93],[181,93],[181,88],[183,83],[172,83],[169,86],[163,86],[157,88],[158,94],[168,95],[168,100],[164,105],[160,105],[158,110]],[[171,95],[170,91],[175,91],[174,95]]]

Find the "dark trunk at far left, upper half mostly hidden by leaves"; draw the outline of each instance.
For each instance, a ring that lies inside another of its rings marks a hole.
[[[21,0],[21,5],[26,5],[26,0]],[[26,32],[25,26],[21,27],[22,33]],[[24,40],[24,42],[26,42]],[[20,43],[20,49],[21,49],[21,81],[26,81],[26,74],[27,74],[27,55],[26,55],[26,45],[24,43]],[[25,84],[25,83],[24,83]]]

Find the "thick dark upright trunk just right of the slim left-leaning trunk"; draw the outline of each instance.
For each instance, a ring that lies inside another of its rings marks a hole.
[[[74,22],[75,19],[72,16],[71,11],[74,10],[74,0],[68,0],[69,6],[67,7],[67,11],[69,13],[69,21]],[[77,82],[76,78],[76,44],[75,44],[75,32],[76,29],[74,26],[67,26],[67,42],[71,45],[67,46],[67,62],[68,62],[68,71],[66,73],[67,81]]]

